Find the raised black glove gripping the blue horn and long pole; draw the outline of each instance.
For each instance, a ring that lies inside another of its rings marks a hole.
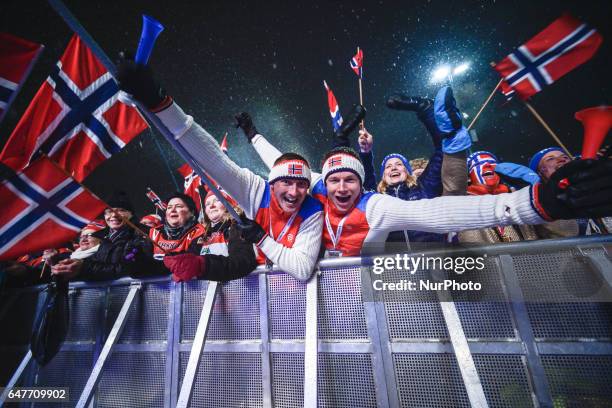
[[[119,88],[142,102],[147,108],[154,109],[166,99],[166,91],[153,77],[148,65],[136,64],[120,54],[117,70]]]

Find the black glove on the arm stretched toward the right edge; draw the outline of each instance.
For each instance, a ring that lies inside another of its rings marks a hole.
[[[574,160],[534,186],[534,204],[545,219],[612,215],[612,159]],[[544,214],[542,214],[543,210]]]

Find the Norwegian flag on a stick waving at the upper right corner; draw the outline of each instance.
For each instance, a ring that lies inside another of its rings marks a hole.
[[[588,61],[603,41],[595,29],[564,14],[495,65],[504,78],[502,92],[521,99],[540,92]],[[505,85],[504,85],[505,84]]]

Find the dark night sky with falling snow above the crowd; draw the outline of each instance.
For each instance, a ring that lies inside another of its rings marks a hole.
[[[0,30],[43,43],[46,48],[4,122],[0,146],[51,67],[71,32],[44,1],[4,0]],[[330,84],[343,114],[358,102],[356,76],[348,60],[364,50],[366,126],[375,137],[376,166],[388,153],[429,156],[432,145],[415,115],[390,111],[394,92],[433,96],[431,72],[441,63],[471,63],[454,79],[459,107],[475,115],[498,81],[489,67],[516,46],[569,11],[597,28],[604,44],[595,58],[532,99],[533,105],[573,150],[582,127],[574,112],[609,104],[610,2],[605,1],[66,1],[68,8],[106,53],[135,50],[142,13],[166,27],[150,64],[169,94],[211,134],[229,131],[229,154],[240,165],[267,174],[253,149],[232,127],[232,116],[247,111],[257,128],[282,151],[305,154],[315,169],[331,140],[322,80]],[[469,121],[469,119],[468,119]],[[508,161],[525,163],[552,144],[519,101],[497,95],[476,125],[480,141]],[[155,132],[144,132],[98,167],[85,184],[101,197],[128,191],[141,211],[144,196],[175,190],[169,166],[182,160]],[[175,177],[175,180],[173,180]]]

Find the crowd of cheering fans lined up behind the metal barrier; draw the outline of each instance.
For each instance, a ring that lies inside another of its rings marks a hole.
[[[124,62],[119,80],[223,187],[241,221],[230,217],[212,192],[202,197],[201,214],[190,196],[177,192],[167,198],[163,217],[140,219],[126,195],[117,193],[108,200],[103,219],[85,226],[75,242],[1,265],[9,284],[36,284],[52,276],[100,281],[160,274],[171,274],[175,281],[228,281],[247,276],[257,264],[276,264],[305,281],[320,256],[356,256],[369,245],[382,252],[385,243],[393,244],[386,251],[414,250],[415,244],[421,249],[610,231],[610,219],[592,216],[610,215],[606,198],[597,198],[598,189],[610,188],[609,181],[601,181],[610,178],[607,151],[599,164],[579,164],[580,174],[560,171],[576,161],[557,147],[535,153],[525,166],[500,163],[489,151],[472,153],[448,86],[433,100],[404,95],[388,99],[390,109],[416,113],[431,137],[432,154],[408,160],[402,152],[392,152],[378,175],[374,137],[363,126],[365,109],[360,105],[334,133],[321,173],[311,170],[302,155],[283,154],[272,146],[250,115],[237,115],[237,126],[270,169],[266,180],[223,154],[165,95],[150,71]],[[358,151],[350,147],[356,129]],[[585,172],[587,181],[581,176]],[[567,177],[576,185],[567,190],[576,194],[575,201],[561,204],[559,191],[553,189]],[[581,182],[585,184],[578,188]],[[593,185],[597,188],[589,190]]]

